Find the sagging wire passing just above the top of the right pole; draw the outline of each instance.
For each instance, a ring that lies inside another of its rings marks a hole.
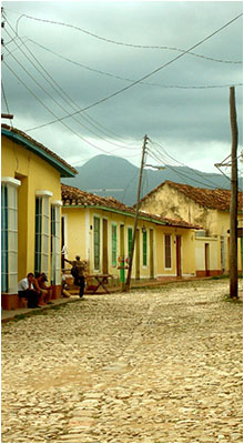
[[[80,68],[83,68],[85,70],[95,72],[95,73],[101,74],[101,75],[106,75],[106,77],[110,77],[110,78],[113,78],[113,79],[116,79],[116,80],[122,80],[122,81],[125,81],[125,82],[129,82],[129,83],[134,81],[134,79],[129,79],[129,78],[125,78],[125,77],[113,74],[111,72],[101,71],[101,70],[88,67],[87,64],[83,64],[83,63],[77,62],[74,60],[71,60],[71,59],[69,59],[67,57],[63,57],[63,56],[59,54],[58,52],[51,50],[50,48],[47,48],[43,44],[40,44],[40,43],[35,42],[32,39],[27,39],[27,40],[29,42],[35,44],[37,47],[43,49],[44,51],[50,52],[50,53],[57,56],[58,58],[60,58],[60,59],[62,59],[62,60],[64,60],[67,62],[70,62],[72,64],[77,65],[77,67],[80,67]],[[146,85],[151,85],[151,87],[159,87],[159,88],[163,88],[163,89],[185,89],[185,90],[191,90],[191,89],[214,89],[214,88],[216,89],[216,88],[227,88],[227,87],[230,88],[230,87],[242,87],[243,85],[243,83],[207,84],[207,85],[179,85],[179,84],[161,84],[161,83],[153,83],[153,82],[140,82],[140,84],[146,84]]]

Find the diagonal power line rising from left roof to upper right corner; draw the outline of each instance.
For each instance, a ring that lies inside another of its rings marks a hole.
[[[129,84],[129,85],[126,85],[126,87],[120,89],[119,91],[113,92],[112,94],[110,94],[110,95],[108,95],[108,97],[105,97],[105,98],[103,98],[103,99],[101,99],[101,100],[98,100],[96,102],[94,102],[94,103],[92,103],[92,104],[90,104],[90,105],[88,105],[88,107],[81,109],[80,111],[75,111],[74,113],[71,113],[71,114],[69,114],[69,115],[65,115],[65,117],[63,117],[63,118],[55,119],[55,120],[53,120],[53,121],[51,121],[51,122],[47,122],[47,123],[43,123],[43,124],[38,125],[38,127],[34,127],[34,128],[30,128],[28,131],[33,131],[33,130],[37,130],[37,129],[44,128],[44,127],[47,127],[47,125],[53,124],[53,123],[55,123],[55,122],[61,122],[61,121],[63,121],[64,119],[68,119],[68,118],[71,117],[71,115],[79,114],[80,112],[87,111],[87,110],[89,110],[89,109],[91,109],[91,108],[93,108],[93,107],[95,107],[95,105],[98,105],[98,104],[100,104],[100,103],[105,102],[105,101],[109,100],[109,99],[112,99],[112,98],[115,97],[115,95],[121,94],[122,92],[129,90],[130,88],[134,87],[135,84],[140,83],[141,81],[148,79],[149,77],[155,74],[156,72],[161,71],[162,69],[164,69],[164,68],[169,67],[170,64],[172,64],[173,62],[175,62],[176,60],[181,59],[183,56],[185,56],[186,53],[189,53],[189,52],[190,52],[191,50],[193,50],[194,48],[196,48],[196,47],[199,47],[200,44],[204,43],[205,41],[210,40],[213,36],[215,36],[216,33],[218,33],[220,31],[222,31],[223,29],[225,29],[226,27],[228,27],[231,23],[233,23],[233,22],[234,22],[235,20],[237,20],[240,17],[242,17],[242,13],[238,14],[238,16],[236,16],[234,19],[230,20],[230,21],[226,22],[225,24],[223,24],[221,28],[218,28],[217,30],[215,30],[214,32],[212,32],[211,34],[209,34],[207,37],[205,37],[204,39],[202,39],[200,42],[193,44],[191,48],[189,48],[189,49],[187,49],[186,51],[184,51],[183,53],[179,54],[179,56],[175,57],[174,59],[170,60],[169,62],[166,62],[166,63],[162,64],[161,67],[156,68],[155,70],[151,71],[149,74],[143,75],[143,77],[140,78],[139,80],[135,80],[133,83],[131,83],[131,84]]]

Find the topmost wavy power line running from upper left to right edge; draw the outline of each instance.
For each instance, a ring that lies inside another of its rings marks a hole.
[[[241,16],[242,16],[242,14],[241,14]],[[241,17],[241,16],[240,16],[240,17]],[[177,51],[177,52],[185,53],[185,50],[180,49],[180,48],[175,48],[175,47],[166,47],[166,46],[146,46],[146,44],[124,43],[124,42],[121,42],[121,41],[116,41],[116,40],[112,40],[112,39],[106,39],[106,38],[104,38],[104,37],[98,36],[98,34],[95,34],[95,33],[93,33],[93,32],[87,31],[87,30],[84,30],[84,29],[82,29],[82,28],[80,28],[80,27],[77,27],[77,26],[74,26],[74,24],[69,24],[69,23],[59,22],[59,21],[54,21],[54,20],[48,20],[48,19],[39,19],[39,18],[37,18],[37,17],[32,17],[32,16],[28,16],[28,14],[21,14],[21,16],[19,17],[19,19],[17,20],[17,24],[16,24],[17,33],[18,33],[18,26],[19,26],[19,22],[20,22],[20,20],[21,20],[23,17],[26,17],[27,19],[30,19],[30,20],[37,20],[37,21],[41,21],[41,22],[44,22],[44,23],[59,24],[59,26],[62,26],[62,27],[72,28],[72,29],[75,29],[77,31],[81,31],[81,32],[83,32],[83,33],[85,33],[85,34],[88,34],[88,36],[91,36],[91,37],[93,37],[93,38],[95,38],[95,39],[103,40],[103,41],[105,41],[106,43],[113,43],[113,44],[119,44],[119,46],[130,47],[130,48],[138,48],[138,49],[171,50],[171,51]],[[202,56],[202,54],[196,54],[196,53],[194,53],[194,52],[189,52],[189,51],[187,51],[187,53],[189,53],[189,56],[199,57],[199,58],[201,58],[201,59],[211,60],[211,61],[218,62],[218,63],[238,63],[238,64],[242,64],[242,61],[214,59],[214,58],[210,58],[210,57]]]

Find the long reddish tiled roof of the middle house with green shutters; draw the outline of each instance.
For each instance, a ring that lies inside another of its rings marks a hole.
[[[129,213],[132,216],[135,215],[135,210],[132,206],[128,206],[114,198],[101,198],[100,195],[87,193],[85,191],[79,190],[75,186],[61,184],[62,202],[63,206],[94,206],[105,208],[108,210],[115,210],[124,213]],[[152,222],[159,222],[169,226],[179,226],[187,229],[200,229],[199,225],[193,225],[182,220],[162,218],[159,214],[146,213],[145,211],[139,212],[140,219],[151,220]]]

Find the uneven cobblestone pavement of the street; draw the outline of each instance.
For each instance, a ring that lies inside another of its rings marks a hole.
[[[242,442],[242,304],[227,292],[91,295],[2,324],[2,442]]]

